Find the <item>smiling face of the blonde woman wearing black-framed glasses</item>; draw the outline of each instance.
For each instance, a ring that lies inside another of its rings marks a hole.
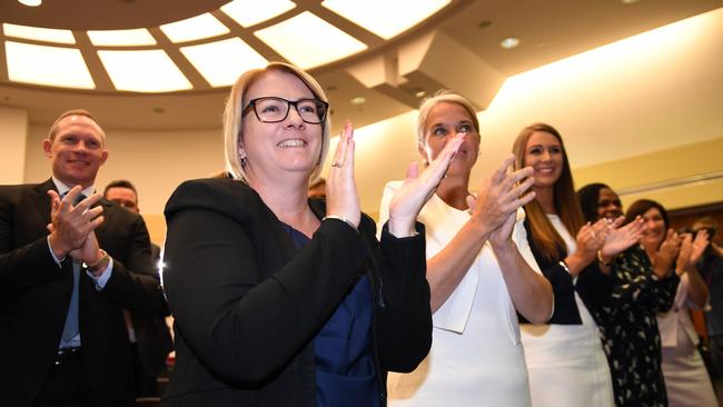
[[[250,100],[278,97],[296,101],[313,99],[311,90],[296,76],[280,70],[263,73],[247,90],[242,108]],[[261,122],[248,110],[239,142],[239,156],[246,158],[246,172],[254,178],[276,178],[299,173],[307,179],[319,163],[321,125],[304,122],[294,108],[279,122]]]

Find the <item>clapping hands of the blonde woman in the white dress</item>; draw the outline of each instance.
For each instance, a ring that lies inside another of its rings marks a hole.
[[[517,208],[535,199],[535,192],[533,191],[525,195],[535,183],[535,179],[532,177],[533,168],[525,167],[508,172],[514,162],[515,156],[507,156],[502,166],[489,178],[485,179],[477,196],[467,199],[472,218],[482,225],[486,225],[487,230],[499,228],[512,214],[517,211]],[[496,236],[493,232],[491,244],[507,241],[508,238],[508,236]]]

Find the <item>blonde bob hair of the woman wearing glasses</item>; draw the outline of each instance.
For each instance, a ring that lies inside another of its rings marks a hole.
[[[266,68],[251,69],[244,72],[234,83],[231,88],[231,93],[226,100],[226,109],[224,110],[224,147],[225,147],[225,157],[226,157],[226,169],[234,179],[241,180],[247,182],[247,176],[241,166],[241,158],[239,156],[239,146],[241,142],[244,133],[244,103],[247,102],[246,91],[248,88],[259,80],[265,73],[271,71],[281,71],[290,73],[301,80],[307,88],[314,93],[314,97],[328,102],[326,93],[319,82],[316,79],[311,78],[310,75],[300,70],[299,68],[284,63],[284,62],[270,62]],[[315,126],[315,125],[310,125]],[[311,173],[311,180],[316,179],[321,172],[321,162],[326,158],[327,150],[329,148],[329,128],[331,127],[331,121],[329,119],[329,113],[327,111],[326,118],[321,123],[321,153],[319,155],[319,160],[317,162],[314,172]]]

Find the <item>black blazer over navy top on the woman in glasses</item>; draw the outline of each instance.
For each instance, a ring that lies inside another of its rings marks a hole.
[[[324,216],[320,200],[310,200]],[[231,179],[182,183],[166,206],[164,282],[175,316],[176,366],[165,406],[315,406],[313,339],[359,276],[374,298],[379,404],[386,371],[412,371],[429,351],[424,230],[379,244],[321,222],[296,249],[259,196]]]

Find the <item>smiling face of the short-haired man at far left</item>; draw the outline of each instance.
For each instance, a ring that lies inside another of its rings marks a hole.
[[[52,161],[52,175],[69,187],[91,186],[108,158],[102,130],[80,115],[62,118],[57,125],[55,137],[42,142],[46,157]]]

